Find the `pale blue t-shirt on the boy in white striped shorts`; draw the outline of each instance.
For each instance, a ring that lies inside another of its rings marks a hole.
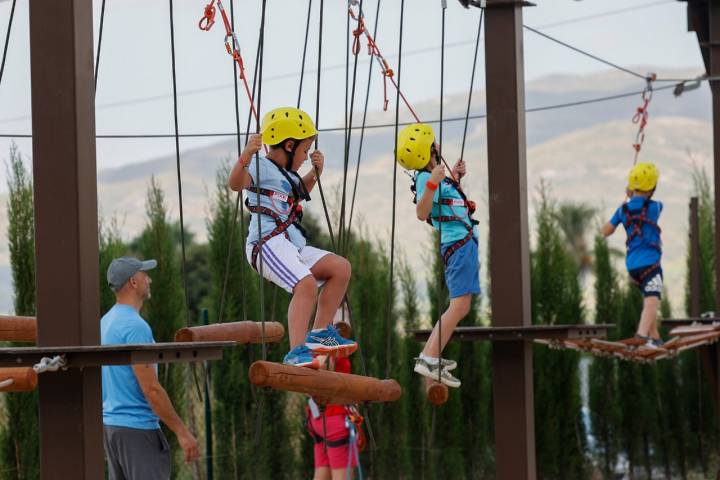
[[[285,176],[280,172],[280,169],[276,165],[272,164],[272,160],[268,158],[260,158],[260,182],[258,182],[255,178],[255,170],[256,159],[253,158],[250,165],[248,165],[248,172],[253,179],[253,186],[272,190],[273,192],[277,192],[281,195],[292,197],[292,187],[290,186],[290,182],[288,182],[287,178],[285,178]],[[288,175],[293,183],[295,183],[298,191],[300,191],[300,177],[293,172],[288,172]],[[258,204],[257,193],[247,192],[246,195],[249,205],[256,206]],[[271,198],[266,195],[260,195],[260,205],[277,213],[283,221],[287,220],[288,215],[290,214],[290,205],[279,198]],[[262,229],[261,236],[263,237],[272,232],[277,226],[275,220],[268,215],[260,215],[260,225],[260,228]],[[298,230],[295,225],[290,225],[286,232],[290,237],[290,241],[296,247],[303,248],[305,246],[305,237],[303,237],[302,233],[300,233],[300,230]],[[257,243],[257,241],[257,214],[253,213],[250,217],[250,225],[248,226],[247,244]]]

